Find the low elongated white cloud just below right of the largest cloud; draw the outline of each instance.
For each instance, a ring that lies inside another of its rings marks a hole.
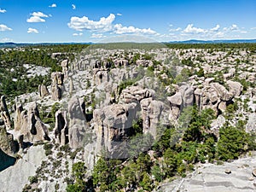
[[[125,34],[125,33],[143,33],[143,34],[156,34],[154,30],[148,29],[141,29],[134,26],[122,26],[121,24],[114,25],[114,33],[116,34]]]

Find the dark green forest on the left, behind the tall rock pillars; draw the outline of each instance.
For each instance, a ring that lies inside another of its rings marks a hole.
[[[13,98],[38,90],[38,84],[49,85],[50,73],[61,71],[60,62],[67,57],[72,61],[74,54],[86,47],[88,44],[37,44],[0,50],[0,95]],[[52,58],[52,53],[61,53],[62,55]],[[36,75],[28,78],[26,67],[23,64],[49,67],[50,72],[46,76]]]

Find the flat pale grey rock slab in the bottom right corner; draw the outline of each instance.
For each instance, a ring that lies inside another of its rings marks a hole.
[[[232,163],[224,163],[222,166],[202,165],[188,177],[162,184],[157,191],[253,192],[256,190],[252,174],[255,163],[255,157],[250,157],[235,160]],[[225,170],[229,170],[230,174],[225,173]]]

